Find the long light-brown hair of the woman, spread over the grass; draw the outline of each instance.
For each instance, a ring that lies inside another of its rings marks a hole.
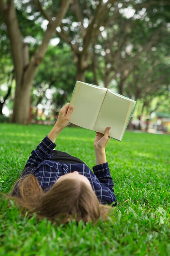
[[[49,191],[43,191],[34,175],[19,180],[20,196],[7,196],[15,199],[23,211],[29,215],[36,212],[38,218],[48,218],[52,222],[65,223],[75,218],[78,222],[96,223],[106,219],[112,207],[99,203],[95,192],[84,182],[66,179],[55,183]]]

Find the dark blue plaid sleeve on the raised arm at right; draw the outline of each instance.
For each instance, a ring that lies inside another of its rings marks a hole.
[[[108,162],[93,166],[93,171],[96,177],[98,178],[99,182],[101,182],[102,184],[107,186],[112,192],[114,192],[114,184],[113,179],[110,175]]]

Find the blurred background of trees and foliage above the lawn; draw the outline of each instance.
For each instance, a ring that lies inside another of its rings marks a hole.
[[[76,80],[137,101],[130,130],[170,133],[170,2],[0,0],[0,122],[53,124]]]

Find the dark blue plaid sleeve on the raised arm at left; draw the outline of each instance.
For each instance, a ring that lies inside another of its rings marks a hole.
[[[49,160],[53,157],[51,151],[55,148],[55,143],[53,143],[49,137],[45,137],[41,143],[37,146],[35,150],[31,152],[31,156],[26,162],[26,166],[37,166],[44,160]]]

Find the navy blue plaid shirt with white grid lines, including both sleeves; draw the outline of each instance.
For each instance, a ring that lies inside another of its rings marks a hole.
[[[40,187],[47,191],[51,189],[62,175],[78,171],[79,174],[88,178],[100,203],[112,204],[115,202],[113,205],[116,206],[116,196],[113,193],[113,179],[110,176],[107,162],[93,166],[94,173],[86,164],[55,162],[51,160],[55,146],[55,143],[46,136],[37,148],[31,152],[31,156],[20,177],[34,174]]]

